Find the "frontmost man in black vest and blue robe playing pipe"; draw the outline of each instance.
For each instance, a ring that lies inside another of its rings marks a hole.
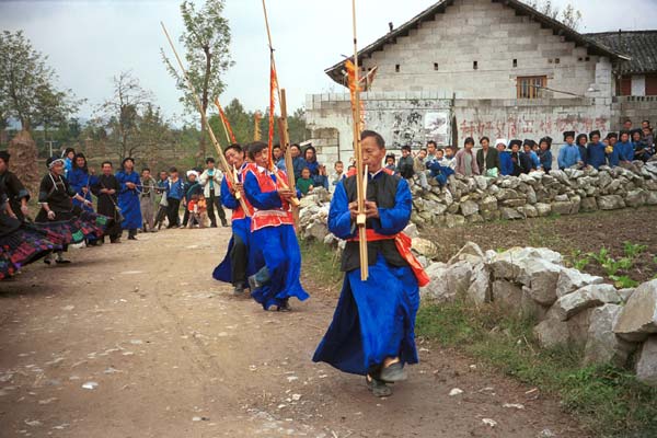
[[[415,315],[419,286],[428,284],[422,266],[411,253],[411,239],[402,231],[408,224],[412,196],[405,180],[381,169],[385,155],[383,138],[361,134],[364,164],[368,166],[367,240],[369,277],[360,278],[356,177],[335,189],[328,229],[347,241],[342,255],[343,290],[313,361],[366,376],[377,396],[392,393],[388,383],[406,379],[405,364],[417,364]]]

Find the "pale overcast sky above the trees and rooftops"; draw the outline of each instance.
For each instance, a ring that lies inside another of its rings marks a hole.
[[[0,31],[23,30],[48,56],[59,87],[88,102],[78,116],[89,118],[112,95],[112,78],[131,70],[152,91],[174,123],[184,116],[180,91],[166,72],[160,48],[171,54],[160,28],[174,39],[184,31],[182,0],[0,0]],[[199,3],[201,0],[195,0]],[[437,0],[358,0],[358,41],[365,47]],[[558,7],[568,0],[553,0]],[[656,28],[657,0],[577,0],[580,32]],[[306,95],[342,92],[324,69],[353,53],[350,0],[268,0],[279,83],[287,89],[288,112]],[[224,76],[221,102],[238,97],[246,110],[264,108],[268,93],[268,48],[261,0],[226,0],[235,65]],[[178,51],[182,47],[177,47]],[[1,67],[0,67],[1,68]]]

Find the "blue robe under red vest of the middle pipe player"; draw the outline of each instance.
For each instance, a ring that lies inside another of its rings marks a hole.
[[[276,181],[275,175],[272,178]],[[258,210],[280,210],[283,206],[278,192],[263,193],[252,172],[246,173],[244,192],[251,205]],[[261,228],[251,233],[250,243],[254,270],[266,266],[270,277],[265,286],[251,291],[255,301],[267,310],[272,306],[283,306],[291,297],[301,301],[310,297],[299,281],[301,251],[293,226]]]

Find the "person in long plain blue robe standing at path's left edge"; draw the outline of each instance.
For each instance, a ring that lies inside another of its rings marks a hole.
[[[137,240],[137,230],[141,228],[141,206],[139,203],[139,175],[135,172],[135,160],[126,158],[122,162],[123,170],[116,173],[120,186],[118,207],[124,217],[120,227],[128,230],[128,240]]]

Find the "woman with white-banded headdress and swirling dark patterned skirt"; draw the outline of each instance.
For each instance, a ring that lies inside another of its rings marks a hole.
[[[55,262],[70,263],[62,254],[68,245],[90,238],[102,238],[108,219],[73,206],[73,199],[88,207],[91,201],[78,195],[64,177],[64,159],[50,157],[46,165],[48,173],[43,177],[38,188],[41,210],[34,220],[41,227],[64,237],[61,247],[56,251]],[[44,262],[50,264],[50,256],[46,256]]]

